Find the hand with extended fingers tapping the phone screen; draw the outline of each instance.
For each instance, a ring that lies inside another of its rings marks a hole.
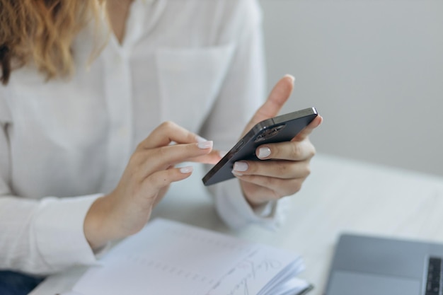
[[[115,190],[91,205],[84,221],[91,248],[140,231],[168,186],[191,175],[192,166],[176,164],[217,163],[220,158],[212,141],[173,122],[161,124],[137,146]]]

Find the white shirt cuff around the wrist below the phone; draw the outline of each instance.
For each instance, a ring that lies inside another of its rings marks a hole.
[[[233,229],[248,224],[259,224],[267,229],[277,229],[284,220],[287,202],[284,199],[267,202],[252,208],[243,197],[238,180],[228,180],[214,188],[215,204],[219,216]]]

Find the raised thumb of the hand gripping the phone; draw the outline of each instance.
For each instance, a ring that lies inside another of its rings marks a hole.
[[[258,108],[251,121],[246,125],[243,134],[251,130],[251,128],[258,122],[278,115],[278,112],[280,112],[284,103],[286,103],[289,96],[291,96],[292,89],[294,89],[294,81],[294,76],[285,75],[277,82],[277,84],[275,84],[265,103]]]

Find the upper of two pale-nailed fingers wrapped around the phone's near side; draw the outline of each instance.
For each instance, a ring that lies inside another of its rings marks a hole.
[[[316,154],[316,148],[309,139],[304,141],[284,141],[277,144],[258,146],[255,154],[261,160],[279,159],[289,161],[304,161]]]

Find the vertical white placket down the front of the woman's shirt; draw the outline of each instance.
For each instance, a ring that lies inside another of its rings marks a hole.
[[[144,33],[146,8],[151,4],[136,0],[126,22],[126,32],[120,45],[114,35],[105,48],[104,86],[108,105],[107,170],[102,192],[112,190],[120,180],[134,149],[133,87],[130,53]]]

